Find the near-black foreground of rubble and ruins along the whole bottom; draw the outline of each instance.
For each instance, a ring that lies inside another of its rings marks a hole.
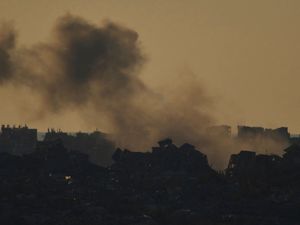
[[[192,145],[118,149],[109,168],[60,142],[0,154],[2,225],[297,225],[299,147],[283,157],[242,151],[214,171]]]

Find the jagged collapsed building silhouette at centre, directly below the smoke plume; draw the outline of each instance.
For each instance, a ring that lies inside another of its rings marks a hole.
[[[159,147],[153,147],[152,152],[117,151],[113,155],[113,168],[132,173],[162,173],[179,172],[197,174],[214,174],[208,165],[207,157],[193,145],[183,144],[177,147],[171,139],[159,141]]]

